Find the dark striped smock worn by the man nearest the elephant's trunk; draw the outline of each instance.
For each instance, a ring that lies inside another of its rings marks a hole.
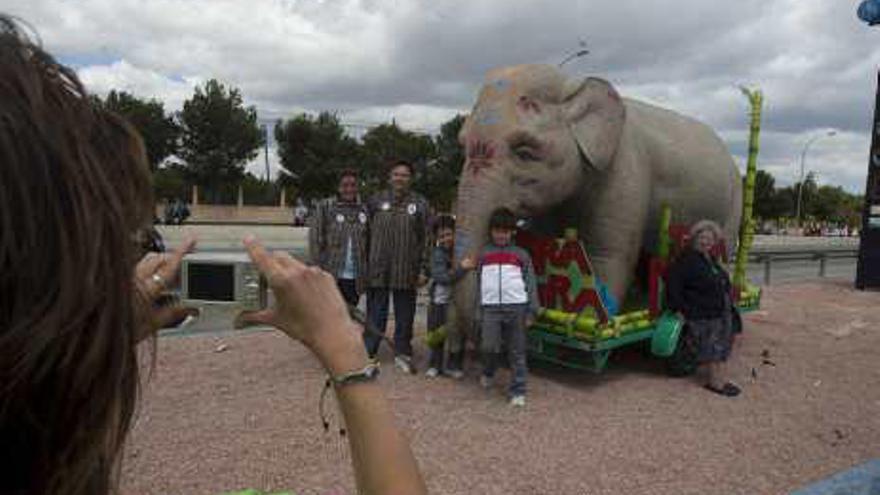
[[[370,287],[414,289],[428,273],[428,202],[415,192],[394,198],[383,191],[367,203],[370,215]]]

